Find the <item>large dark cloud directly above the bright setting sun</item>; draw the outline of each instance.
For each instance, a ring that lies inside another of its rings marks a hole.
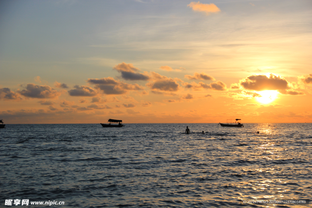
[[[239,84],[244,89],[263,91],[263,90],[285,90],[290,89],[290,84],[285,78],[270,74],[266,75],[250,75],[240,80]]]

